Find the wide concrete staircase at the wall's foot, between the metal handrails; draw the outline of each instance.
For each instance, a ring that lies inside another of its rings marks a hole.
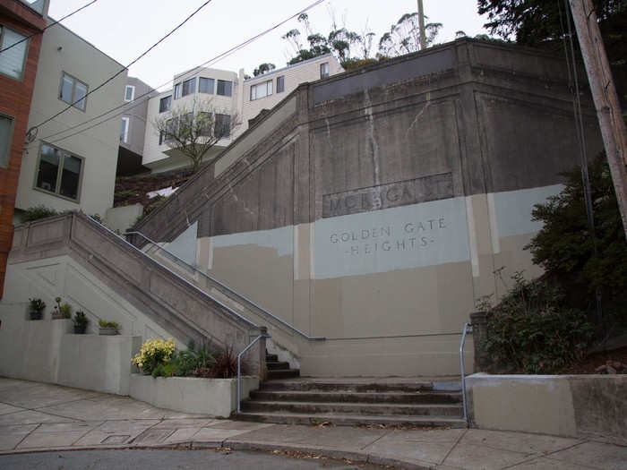
[[[262,423],[465,427],[460,382],[300,378],[266,355],[268,379],[234,418]]]

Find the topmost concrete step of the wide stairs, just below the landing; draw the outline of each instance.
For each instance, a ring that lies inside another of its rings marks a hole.
[[[365,382],[362,380],[273,380],[271,382],[263,382],[260,389],[262,390],[283,390],[283,391],[343,391],[343,392],[421,392],[433,391],[434,382],[416,382],[416,381],[391,381],[391,382]],[[459,391],[459,389],[451,389],[447,391]]]

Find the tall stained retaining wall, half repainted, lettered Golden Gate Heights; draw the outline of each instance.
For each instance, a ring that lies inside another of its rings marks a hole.
[[[565,71],[460,39],[300,85],[139,229],[170,243],[197,223],[201,269],[326,337],[273,333],[305,375],[459,373],[475,301],[540,274],[531,210],[578,151]]]

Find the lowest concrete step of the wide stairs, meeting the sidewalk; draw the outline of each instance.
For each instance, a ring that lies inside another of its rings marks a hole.
[[[374,424],[385,426],[450,427],[465,428],[461,418],[439,416],[360,416],[357,414],[299,414],[299,413],[252,413],[243,412],[231,415],[232,419],[254,421],[257,423],[277,424],[322,424],[332,423],[338,426],[356,426]]]

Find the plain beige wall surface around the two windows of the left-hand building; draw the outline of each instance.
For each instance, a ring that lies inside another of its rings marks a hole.
[[[62,25],[44,31],[29,127],[41,124],[68,106],[59,99],[63,73],[87,83],[89,90],[93,90],[123,68],[124,65]],[[18,209],[43,204],[57,210],[82,209],[88,214],[104,216],[105,210],[113,206],[120,121],[112,119],[78,133],[76,130],[64,131],[121,105],[125,82],[126,71],[109,82],[107,87],[88,96],[84,111],[72,107],[39,127],[37,138],[28,145],[22,158],[16,201]],[[73,133],[76,134],[70,136]],[[42,141],[83,158],[79,201],[35,189]]]

